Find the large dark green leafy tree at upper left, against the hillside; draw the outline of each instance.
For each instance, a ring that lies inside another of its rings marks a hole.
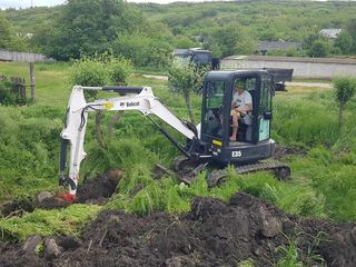
[[[67,60],[110,50],[122,33],[140,29],[142,16],[122,0],[70,0],[49,32],[49,56]]]

